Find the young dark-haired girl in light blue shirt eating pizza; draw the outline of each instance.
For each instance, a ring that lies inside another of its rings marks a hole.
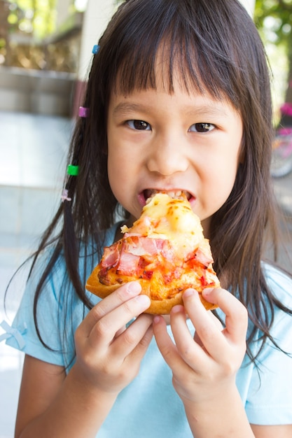
[[[80,115],[8,341],[26,354],[15,437],[291,437],[292,281],[261,261],[271,101],[249,15],[237,0],[126,1]],[[222,323],[193,289],[170,318],[143,313],[135,282],[102,301],[85,291],[154,190],[185,191],[200,216]]]

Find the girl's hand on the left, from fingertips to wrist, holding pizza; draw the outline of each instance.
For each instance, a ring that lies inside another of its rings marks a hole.
[[[90,390],[118,395],[138,374],[153,336],[153,317],[140,315],[150,299],[140,292],[137,282],[121,286],[99,302],[76,330],[74,372]]]

